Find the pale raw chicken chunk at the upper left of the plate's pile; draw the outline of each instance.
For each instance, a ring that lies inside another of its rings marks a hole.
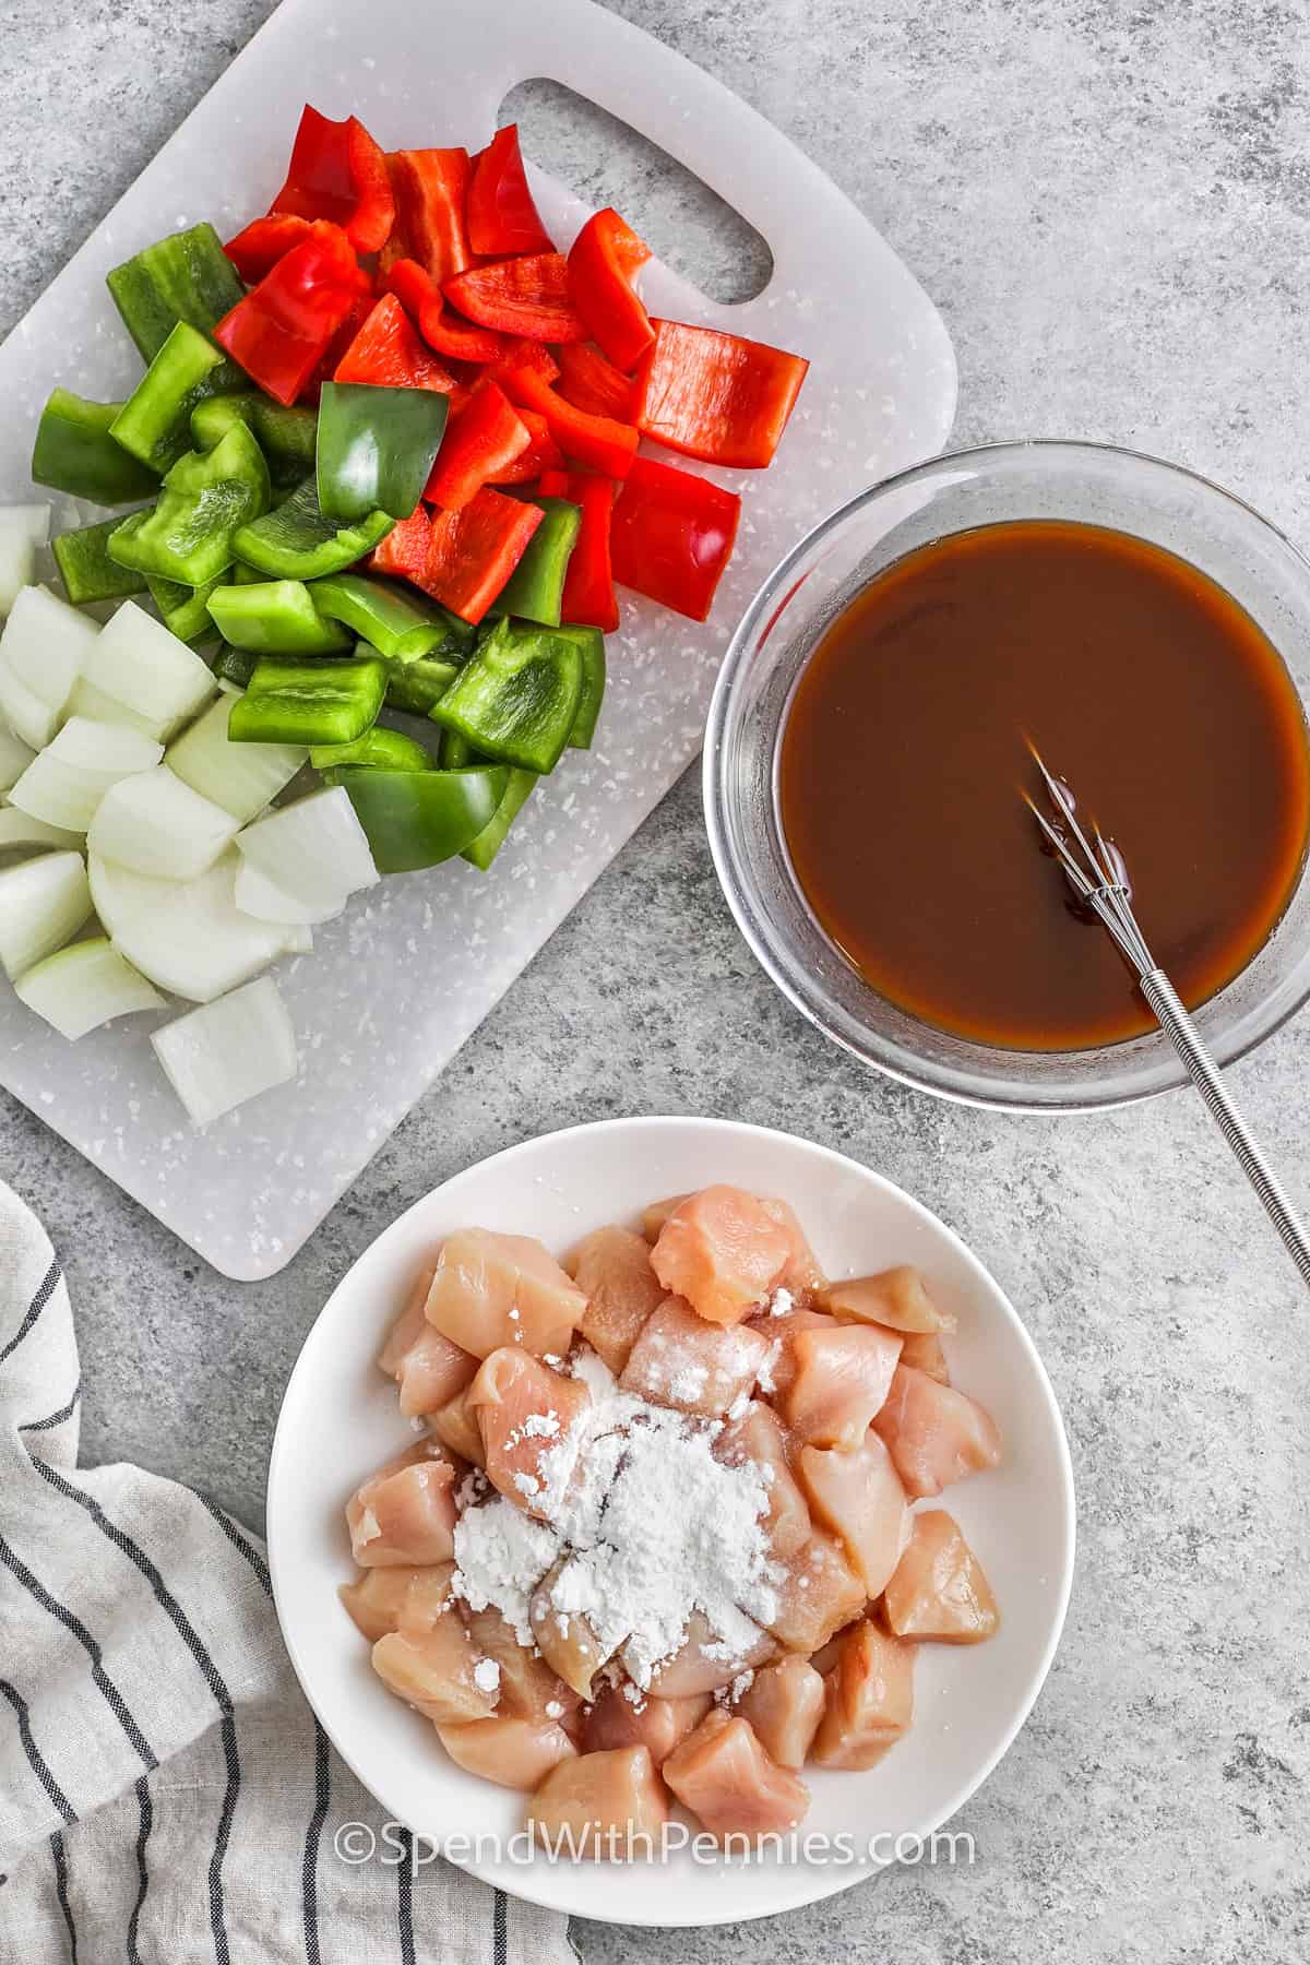
[[[442,1244],[426,1319],[475,1358],[503,1344],[562,1358],[585,1309],[581,1289],[542,1242],[464,1228]]]

